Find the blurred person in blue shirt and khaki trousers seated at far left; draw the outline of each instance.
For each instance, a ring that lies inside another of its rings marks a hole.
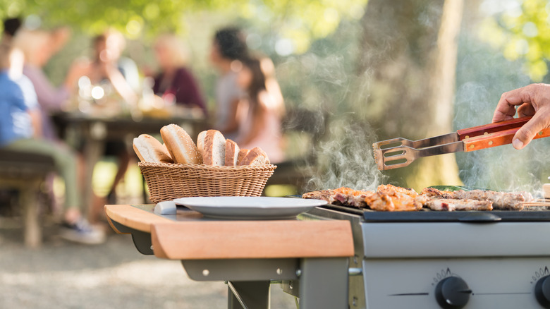
[[[80,243],[102,243],[104,233],[82,217],[75,154],[40,138],[37,96],[23,75],[23,53],[9,44],[0,44],[0,91],[0,147],[51,156],[66,187],[60,236]]]

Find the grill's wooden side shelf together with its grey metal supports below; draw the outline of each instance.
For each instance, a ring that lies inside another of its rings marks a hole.
[[[228,308],[269,308],[271,283],[300,298],[300,308],[348,308],[353,238],[341,220],[224,220],[179,208],[106,205],[119,234],[143,254],[181,260],[196,281],[226,281]]]

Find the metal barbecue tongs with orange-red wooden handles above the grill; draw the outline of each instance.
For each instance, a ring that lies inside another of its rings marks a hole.
[[[424,140],[407,140],[405,138],[382,140],[372,144],[374,160],[380,170],[397,169],[409,165],[420,157],[451,152],[470,152],[511,144],[515,132],[530,119],[531,117],[527,116],[489,123]],[[550,128],[543,129],[534,138],[546,138],[547,136],[550,136]]]

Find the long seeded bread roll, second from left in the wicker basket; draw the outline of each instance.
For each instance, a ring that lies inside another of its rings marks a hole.
[[[161,128],[161,137],[164,145],[176,163],[202,164],[202,156],[197,146],[183,128],[176,124],[169,124]]]

